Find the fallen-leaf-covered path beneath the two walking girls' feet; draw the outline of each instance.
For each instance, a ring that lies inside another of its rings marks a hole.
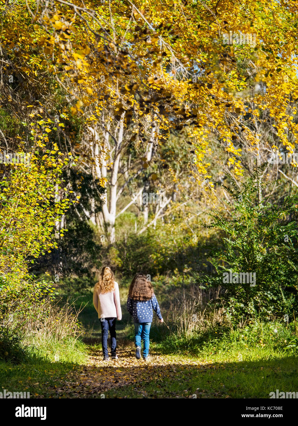
[[[80,366],[65,382],[65,386],[55,390],[56,397],[103,398],[103,397],[161,397],[159,390],[164,379],[175,382],[177,375],[187,382],[193,374],[193,368],[205,370],[207,365],[187,358],[175,359],[167,355],[152,353],[150,360],[137,360],[133,343],[122,345],[117,351],[118,360],[103,361],[100,349],[91,349],[91,355],[84,366]],[[188,377],[189,376],[189,377]],[[125,395],[125,390],[129,389]],[[150,392],[150,389],[153,389]],[[162,392],[164,393],[164,392]],[[175,391],[167,397],[192,397]]]

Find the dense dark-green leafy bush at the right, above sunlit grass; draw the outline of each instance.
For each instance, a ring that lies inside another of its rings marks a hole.
[[[285,196],[280,205],[259,199],[260,170],[242,190],[236,184],[224,189],[235,200],[234,210],[230,216],[210,213],[213,223],[205,226],[218,231],[208,246],[215,269],[198,282],[224,288],[220,304],[234,323],[255,317],[292,318],[298,308],[298,195]]]

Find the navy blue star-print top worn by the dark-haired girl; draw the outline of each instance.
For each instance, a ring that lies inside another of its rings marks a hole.
[[[152,322],[153,320],[153,311],[154,309],[159,320],[162,319],[160,313],[159,304],[157,302],[155,294],[149,300],[144,300],[140,302],[139,300],[131,299],[128,296],[127,299],[127,310],[133,316],[134,322]]]

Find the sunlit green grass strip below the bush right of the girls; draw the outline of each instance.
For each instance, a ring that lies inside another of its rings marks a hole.
[[[295,356],[298,353],[298,323],[255,322],[244,328],[208,328],[188,337],[170,334],[163,339],[156,333],[156,349],[163,354],[184,354],[218,362],[241,358],[257,360],[260,357]]]

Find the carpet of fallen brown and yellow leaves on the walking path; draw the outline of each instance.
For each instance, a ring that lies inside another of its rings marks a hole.
[[[188,371],[190,367],[197,366],[202,368],[202,371],[206,367],[210,368],[207,364],[195,359],[154,353],[150,355],[147,362],[142,359],[137,360],[133,344],[118,349],[117,355],[118,360],[110,358],[109,361],[103,361],[102,351],[91,348],[87,363],[73,371],[72,377],[65,381],[64,386],[54,389],[56,397],[100,398],[105,397],[107,391],[116,391],[124,386],[139,386],[144,382],[162,381],[165,376],[177,380],[177,372],[181,373],[183,370],[186,374],[190,373]],[[147,397],[145,390],[139,393],[142,397]]]

